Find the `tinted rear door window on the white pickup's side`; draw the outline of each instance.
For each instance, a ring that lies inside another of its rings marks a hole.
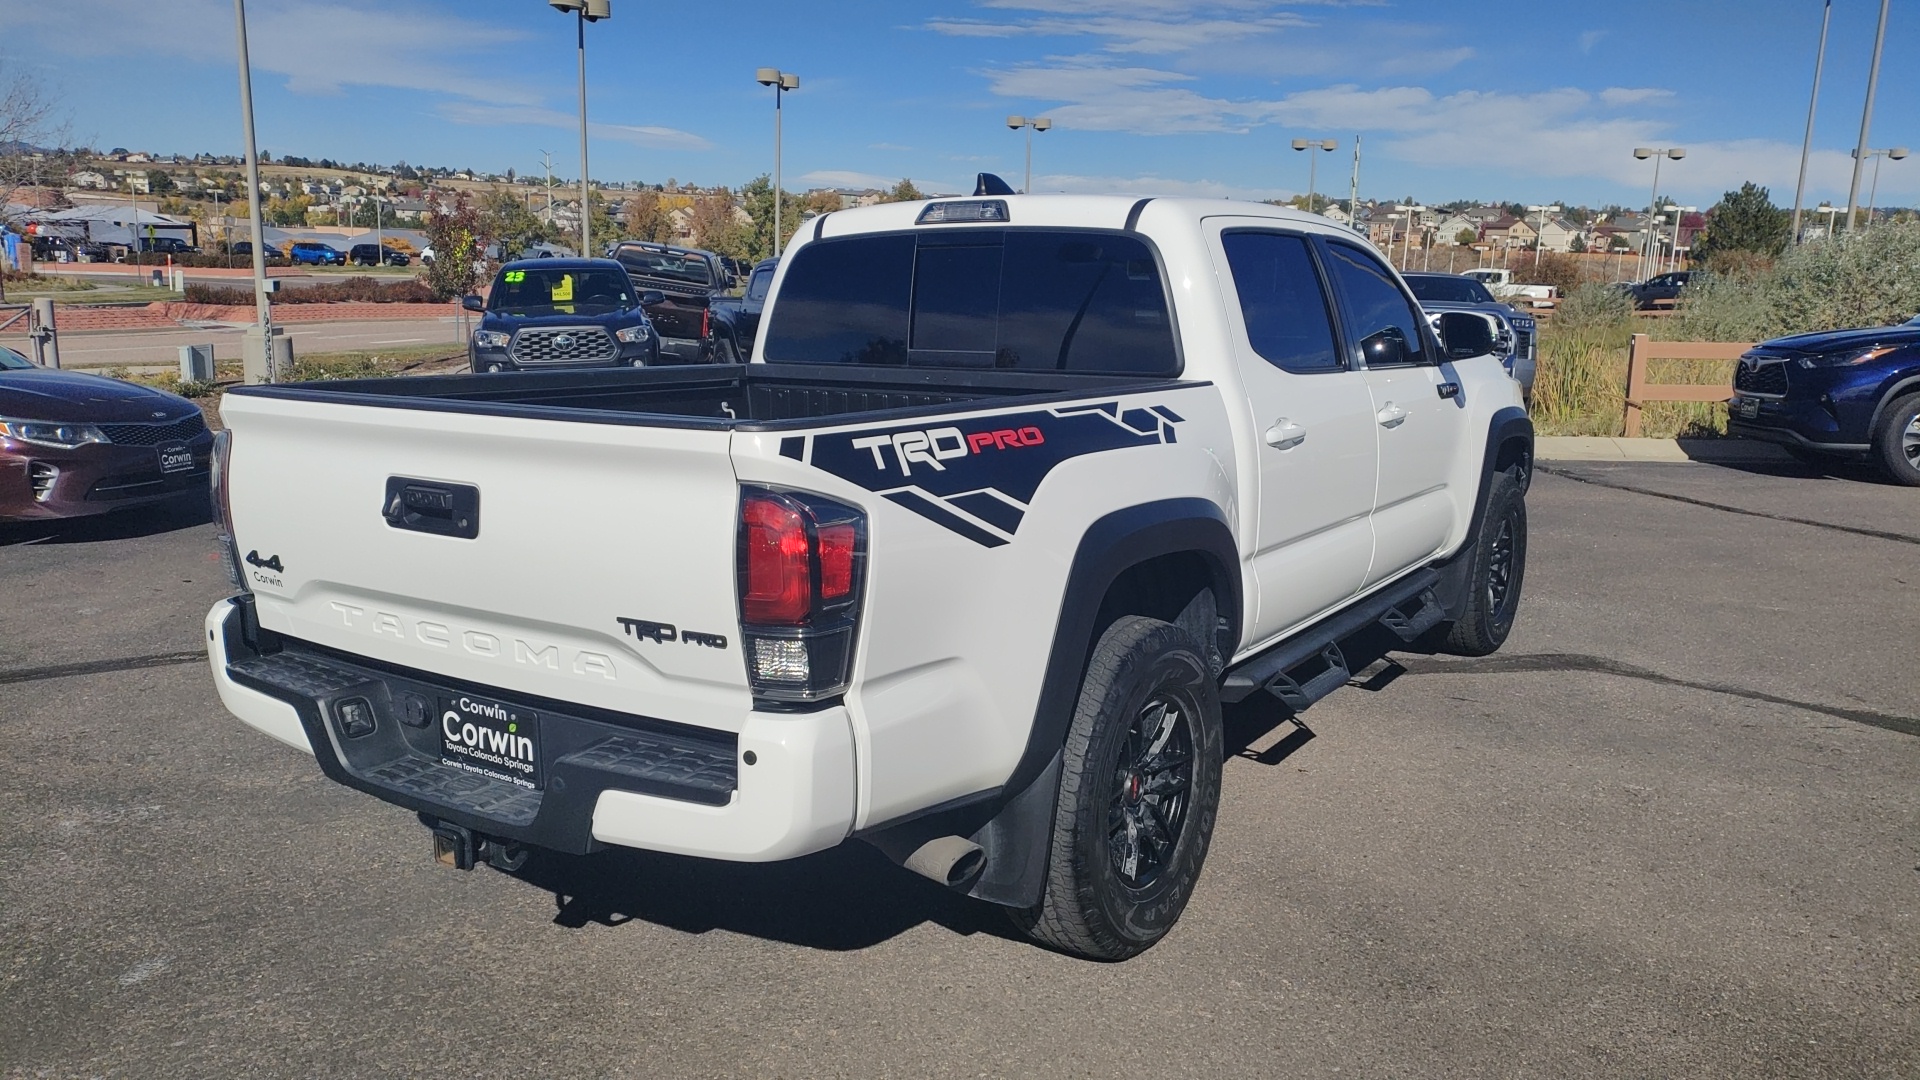
[[[1227,233],[1221,246],[1254,352],[1286,371],[1342,371],[1327,292],[1306,238]]]

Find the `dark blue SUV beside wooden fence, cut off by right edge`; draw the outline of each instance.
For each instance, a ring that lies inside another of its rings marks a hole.
[[[1920,486],[1920,317],[1755,346],[1734,369],[1726,427],[1807,461],[1866,457]]]

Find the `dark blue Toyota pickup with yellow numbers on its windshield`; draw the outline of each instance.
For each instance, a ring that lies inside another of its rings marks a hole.
[[[660,334],[647,319],[651,294],[634,290],[612,259],[524,259],[499,267],[467,342],[474,371],[647,367],[660,361]]]

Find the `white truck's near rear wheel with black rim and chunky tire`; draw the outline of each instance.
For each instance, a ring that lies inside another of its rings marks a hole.
[[[1200,644],[1158,619],[1129,615],[1108,626],[1068,730],[1046,886],[1037,907],[1012,911],[1014,922],[1094,961],[1123,961],[1164,938],[1213,838],[1221,740],[1219,688]],[[1179,753],[1185,763],[1173,763]],[[1152,824],[1129,824],[1142,821]],[[1154,846],[1162,826],[1171,844]],[[1133,863],[1125,851],[1135,851]]]

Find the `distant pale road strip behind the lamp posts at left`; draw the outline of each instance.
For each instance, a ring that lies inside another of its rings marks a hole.
[[[60,336],[61,367],[175,367],[180,346],[211,344],[215,359],[236,359],[244,331],[125,331]],[[288,327],[294,356],[317,352],[378,350],[380,346],[411,348],[445,342],[447,350],[465,348],[453,319],[378,319],[363,323],[300,323]],[[6,336],[10,348],[27,352],[25,338]]]

